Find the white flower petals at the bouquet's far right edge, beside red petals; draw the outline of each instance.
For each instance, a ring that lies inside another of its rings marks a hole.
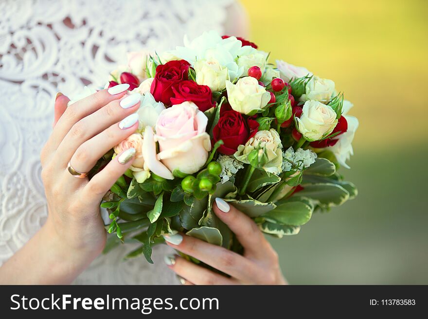
[[[354,139],[355,131],[357,131],[358,128],[358,119],[349,115],[345,116],[345,118],[348,122],[348,130],[337,137],[339,141],[337,141],[334,146],[329,147],[329,150],[335,154],[341,166],[350,168],[348,164],[346,164],[346,161],[349,160],[351,155],[354,155],[351,143]]]

